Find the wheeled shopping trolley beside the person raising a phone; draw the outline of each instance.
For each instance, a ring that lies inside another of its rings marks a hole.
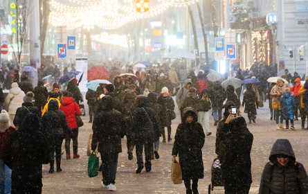
[[[208,194],[210,194],[210,191],[213,191],[214,186],[224,186],[224,183],[222,181],[222,175],[221,175],[221,163],[219,159],[214,159],[212,163],[212,184],[208,185]]]

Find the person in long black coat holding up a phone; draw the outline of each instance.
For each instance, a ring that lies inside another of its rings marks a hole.
[[[221,161],[222,179],[225,193],[249,193],[251,187],[251,147],[253,134],[246,127],[244,117],[230,114],[219,137],[226,145]]]

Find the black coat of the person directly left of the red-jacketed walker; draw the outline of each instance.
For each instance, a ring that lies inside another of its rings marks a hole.
[[[63,111],[59,110],[57,100],[50,100],[48,111],[42,117],[42,131],[48,139],[64,138],[65,134],[73,136]]]

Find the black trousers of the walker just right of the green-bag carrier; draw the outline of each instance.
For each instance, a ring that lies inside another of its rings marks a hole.
[[[143,146],[145,147],[145,168],[150,169],[152,167],[151,157],[154,151],[153,139],[145,139],[144,141],[136,141],[136,156],[138,167],[143,167]]]

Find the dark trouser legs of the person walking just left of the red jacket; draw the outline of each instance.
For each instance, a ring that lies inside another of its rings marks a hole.
[[[51,166],[55,164],[55,161],[57,164],[60,165],[61,163],[61,147],[62,147],[63,138],[50,138],[48,139],[49,143],[49,161],[51,163]]]

